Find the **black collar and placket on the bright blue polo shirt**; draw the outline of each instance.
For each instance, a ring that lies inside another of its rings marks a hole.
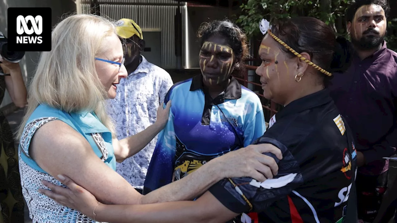
[[[230,100],[241,98],[241,85],[234,77],[230,78],[230,82],[229,85],[227,85],[226,90],[214,99],[211,98],[208,94],[208,90],[204,87],[202,75],[194,76],[190,85],[190,91],[199,89],[204,93],[204,109],[201,116],[202,125],[210,124],[212,106],[224,103],[225,99]]]

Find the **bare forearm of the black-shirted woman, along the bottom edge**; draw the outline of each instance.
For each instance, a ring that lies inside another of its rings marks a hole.
[[[197,202],[179,201],[145,205],[99,205],[96,221],[111,223],[208,223]]]

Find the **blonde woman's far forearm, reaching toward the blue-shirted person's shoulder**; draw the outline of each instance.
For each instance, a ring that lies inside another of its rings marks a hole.
[[[121,146],[122,149],[118,150],[121,154],[115,154],[119,156],[118,162],[141,151],[162,129],[162,126],[154,123],[140,133],[119,140],[119,146]]]

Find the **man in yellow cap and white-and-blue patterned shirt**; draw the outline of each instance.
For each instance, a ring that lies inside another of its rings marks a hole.
[[[133,20],[120,19],[116,30],[126,41],[124,65],[129,75],[120,80],[116,98],[109,100],[108,113],[116,126],[117,138],[121,139],[145,130],[156,121],[157,108],[173,82],[167,71],[141,55],[145,41],[141,28]],[[143,150],[116,166],[116,171],[141,193],[156,142],[157,136]]]

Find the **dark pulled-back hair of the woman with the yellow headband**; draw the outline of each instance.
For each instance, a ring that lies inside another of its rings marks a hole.
[[[350,65],[351,47],[343,37],[336,37],[330,26],[313,17],[294,17],[275,22],[272,32],[296,52],[306,52],[311,61],[330,73],[343,72]],[[280,49],[295,57],[280,44]],[[330,79],[318,71],[327,87]]]

